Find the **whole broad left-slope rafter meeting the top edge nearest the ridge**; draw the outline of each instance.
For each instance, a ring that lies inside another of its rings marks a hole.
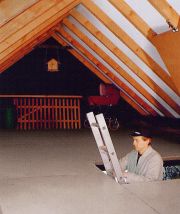
[[[2,41],[0,43],[0,65],[17,53],[17,51],[20,51],[21,48],[31,43],[34,38],[57,25],[77,4],[79,4],[79,0],[59,1],[59,3],[55,4],[41,16],[35,20],[33,19],[29,24]]]

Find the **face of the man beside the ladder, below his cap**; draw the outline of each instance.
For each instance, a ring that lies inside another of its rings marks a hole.
[[[142,136],[133,137],[133,146],[137,152],[143,154],[148,148],[150,140],[144,140]]]

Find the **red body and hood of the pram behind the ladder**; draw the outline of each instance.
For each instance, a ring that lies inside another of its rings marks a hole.
[[[119,90],[113,85],[100,84],[99,86],[100,96],[88,97],[89,105],[117,105],[120,94]]]

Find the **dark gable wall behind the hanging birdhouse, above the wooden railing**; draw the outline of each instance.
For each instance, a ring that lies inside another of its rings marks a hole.
[[[53,39],[44,44],[57,48],[36,47],[0,75],[1,94],[95,95],[101,82],[81,62]],[[47,62],[61,62],[59,72],[48,72]]]

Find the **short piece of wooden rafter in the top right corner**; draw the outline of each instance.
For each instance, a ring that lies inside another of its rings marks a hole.
[[[159,11],[159,13],[170,22],[174,28],[178,27],[179,15],[178,13],[168,4],[167,0],[148,0],[152,6]]]

